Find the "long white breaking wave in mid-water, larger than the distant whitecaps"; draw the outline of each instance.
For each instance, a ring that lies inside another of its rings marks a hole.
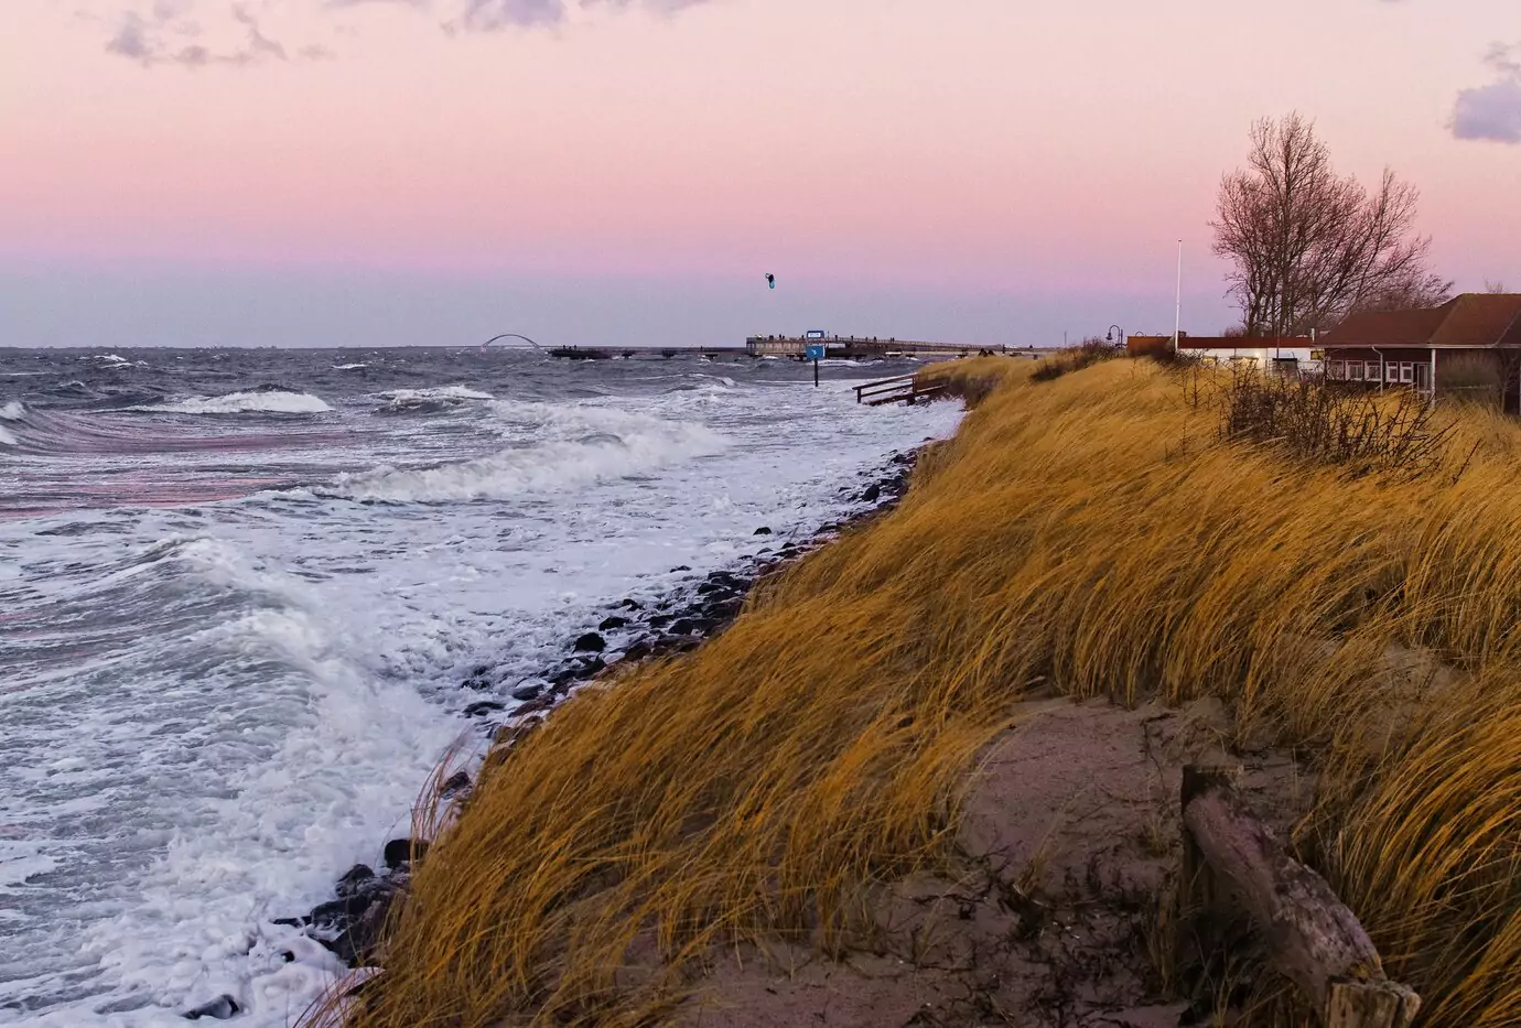
[[[532,441],[490,456],[424,468],[377,467],[341,474],[332,494],[354,500],[444,503],[586,488],[727,449],[706,426],[613,408],[493,401],[534,424]]]

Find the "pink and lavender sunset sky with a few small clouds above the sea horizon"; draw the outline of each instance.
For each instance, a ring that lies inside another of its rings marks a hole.
[[[1521,289],[1516,0],[3,6],[0,345],[1215,333],[1291,109]]]

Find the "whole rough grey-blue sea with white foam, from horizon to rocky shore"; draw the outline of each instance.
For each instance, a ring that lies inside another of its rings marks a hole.
[[[298,1023],[274,919],[484,750],[472,668],[859,511],[961,417],[855,401],[917,366],[0,348],[0,1025]]]

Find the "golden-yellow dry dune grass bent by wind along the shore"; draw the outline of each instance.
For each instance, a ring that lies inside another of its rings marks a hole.
[[[1389,484],[1221,444],[1148,363],[934,374],[983,401],[900,508],[497,751],[347,1023],[654,1023],[716,944],[849,944],[1037,683],[1300,747],[1300,844],[1422,1023],[1521,1023],[1521,433],[1463,414],[1456,484]]]

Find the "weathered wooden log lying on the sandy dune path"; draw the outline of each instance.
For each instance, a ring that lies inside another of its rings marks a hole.
[[[1229,771],[1183,768],[1183,905],[1235,903],[1261,929],[1273,966],[1326,1028],[1408,1028],[1421,1008],[1389,981],[1363,925],[1323,877],[1241,801]]]

